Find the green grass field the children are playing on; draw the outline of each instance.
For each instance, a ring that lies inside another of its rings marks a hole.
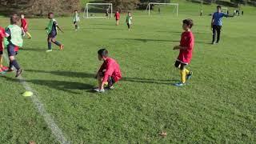
[[[210,17],[181,3],[178,17],[134,11],[134,26],[90,19],[74,31],[72,18],[57,18],[65,50],[46,53],[47,19],[30,19],[18,62],[22,77],[72,143],[254,143],[256,142],[256,9],[224,18],[222,40],[210,45]],[[213,12],[214,6],[206,6]],[[182,19],[194,20],[194,77],[185,87],[174,69]],[[0,25],[7,26],[1,18]],[[104,94],[91,92],[106,47],[122,68],[122,81]],[[0,143],[58,143],[14,74],[0,76]],[[158,135],[166,131],[166,138]]]

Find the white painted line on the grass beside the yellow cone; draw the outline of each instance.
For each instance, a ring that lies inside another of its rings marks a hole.
[[[7,58],[6,54],[4,54],[4,58],[6,59],[6,62],[9,62],[9,59]],[[42,115],[42,117],[44,118],[47,126],[50,128],[52,134],[54,134],[54,136],[58,140],[58,142],[63,143],[63,144],[70,143],[64,137],[64,134],[62,133],[62,130],[60,128],[58,128],[58,126],[54,122],[54,119],[51,118],[50,114],[47,113],[47,111],[45,109],[45,106],[37,98],[38,93],[30,87],[30,85],[26,82],[25,78],[22,78],[22,76],[19,76],[18,80],[27,91],[32,91],[33,92],[34,95],[30,98],[32,99],[32,102],[34,103],[34,106],[37,108],[39,114]]]

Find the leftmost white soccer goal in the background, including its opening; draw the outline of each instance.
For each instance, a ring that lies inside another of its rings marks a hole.
[[[112,18],[112,3],[86,3],[83,18],[106,18],[106,14],[110,14]]]

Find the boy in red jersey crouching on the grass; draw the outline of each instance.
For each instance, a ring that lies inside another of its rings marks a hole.
[[[122,74],[118,62],[108,57],[108,51],[106,49],[98,50],[98,60],[104,62],[96,75],[98,88],[94,90],[97,92],[105,92],[104,86],[107,85],[107,88],[113,89],[114,83],[122,78]]]

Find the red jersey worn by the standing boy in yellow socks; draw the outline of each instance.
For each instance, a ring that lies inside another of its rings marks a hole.
[[[182,39],[179,46],[186,46],[186,50],[180,50],[178,54],[178,61],[184,64],[189,64],[192,58],[194,49],[194,35],[191,31],[182,33]]]

